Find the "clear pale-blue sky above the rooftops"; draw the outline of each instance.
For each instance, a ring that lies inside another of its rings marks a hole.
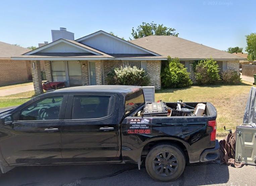
[[[104,30],[128,40],[143,21],[163,23],[181,38],[220,50],[245,50],[245,35],[256,32],[255,1],[2,0],[0,7],[0,41],[23,47],[51,42],[51,29],[59,27],[75,39]]]

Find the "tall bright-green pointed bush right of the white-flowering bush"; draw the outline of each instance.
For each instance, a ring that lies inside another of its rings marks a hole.
[[[168,56],[168,63],[161,73],[161,81],[164,88],[182,88],[192,85],[187,68],[184,68],[178,58],[171,59]]]

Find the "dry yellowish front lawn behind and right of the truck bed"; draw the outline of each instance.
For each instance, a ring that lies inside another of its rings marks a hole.
[[[210,102],[217,109],[217,135],[225,136],[224,130],[236,129],[243,121],[245,105],[252,83],[243,81],[241,85],[191,86],[157,91],[155,100],[164,102]]]

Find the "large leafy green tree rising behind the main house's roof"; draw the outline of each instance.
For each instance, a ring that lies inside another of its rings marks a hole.
[[[156,24],[154,21],[151,23],[142,22],[141,25],[139,25],[134,30],[134,27],[132,28],[132,36],[134,39],[150,36],[150,35],[157,35],[157,36],[178,36],[178,33],[174,32],[175,29],[171,27],[166,27],[163,24]],[[131,38],[130,38],[131,39]]]

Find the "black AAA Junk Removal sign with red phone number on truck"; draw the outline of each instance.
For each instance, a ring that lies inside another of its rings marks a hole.
[[[151,134],[152,118],[127,119],[127,134]]]

